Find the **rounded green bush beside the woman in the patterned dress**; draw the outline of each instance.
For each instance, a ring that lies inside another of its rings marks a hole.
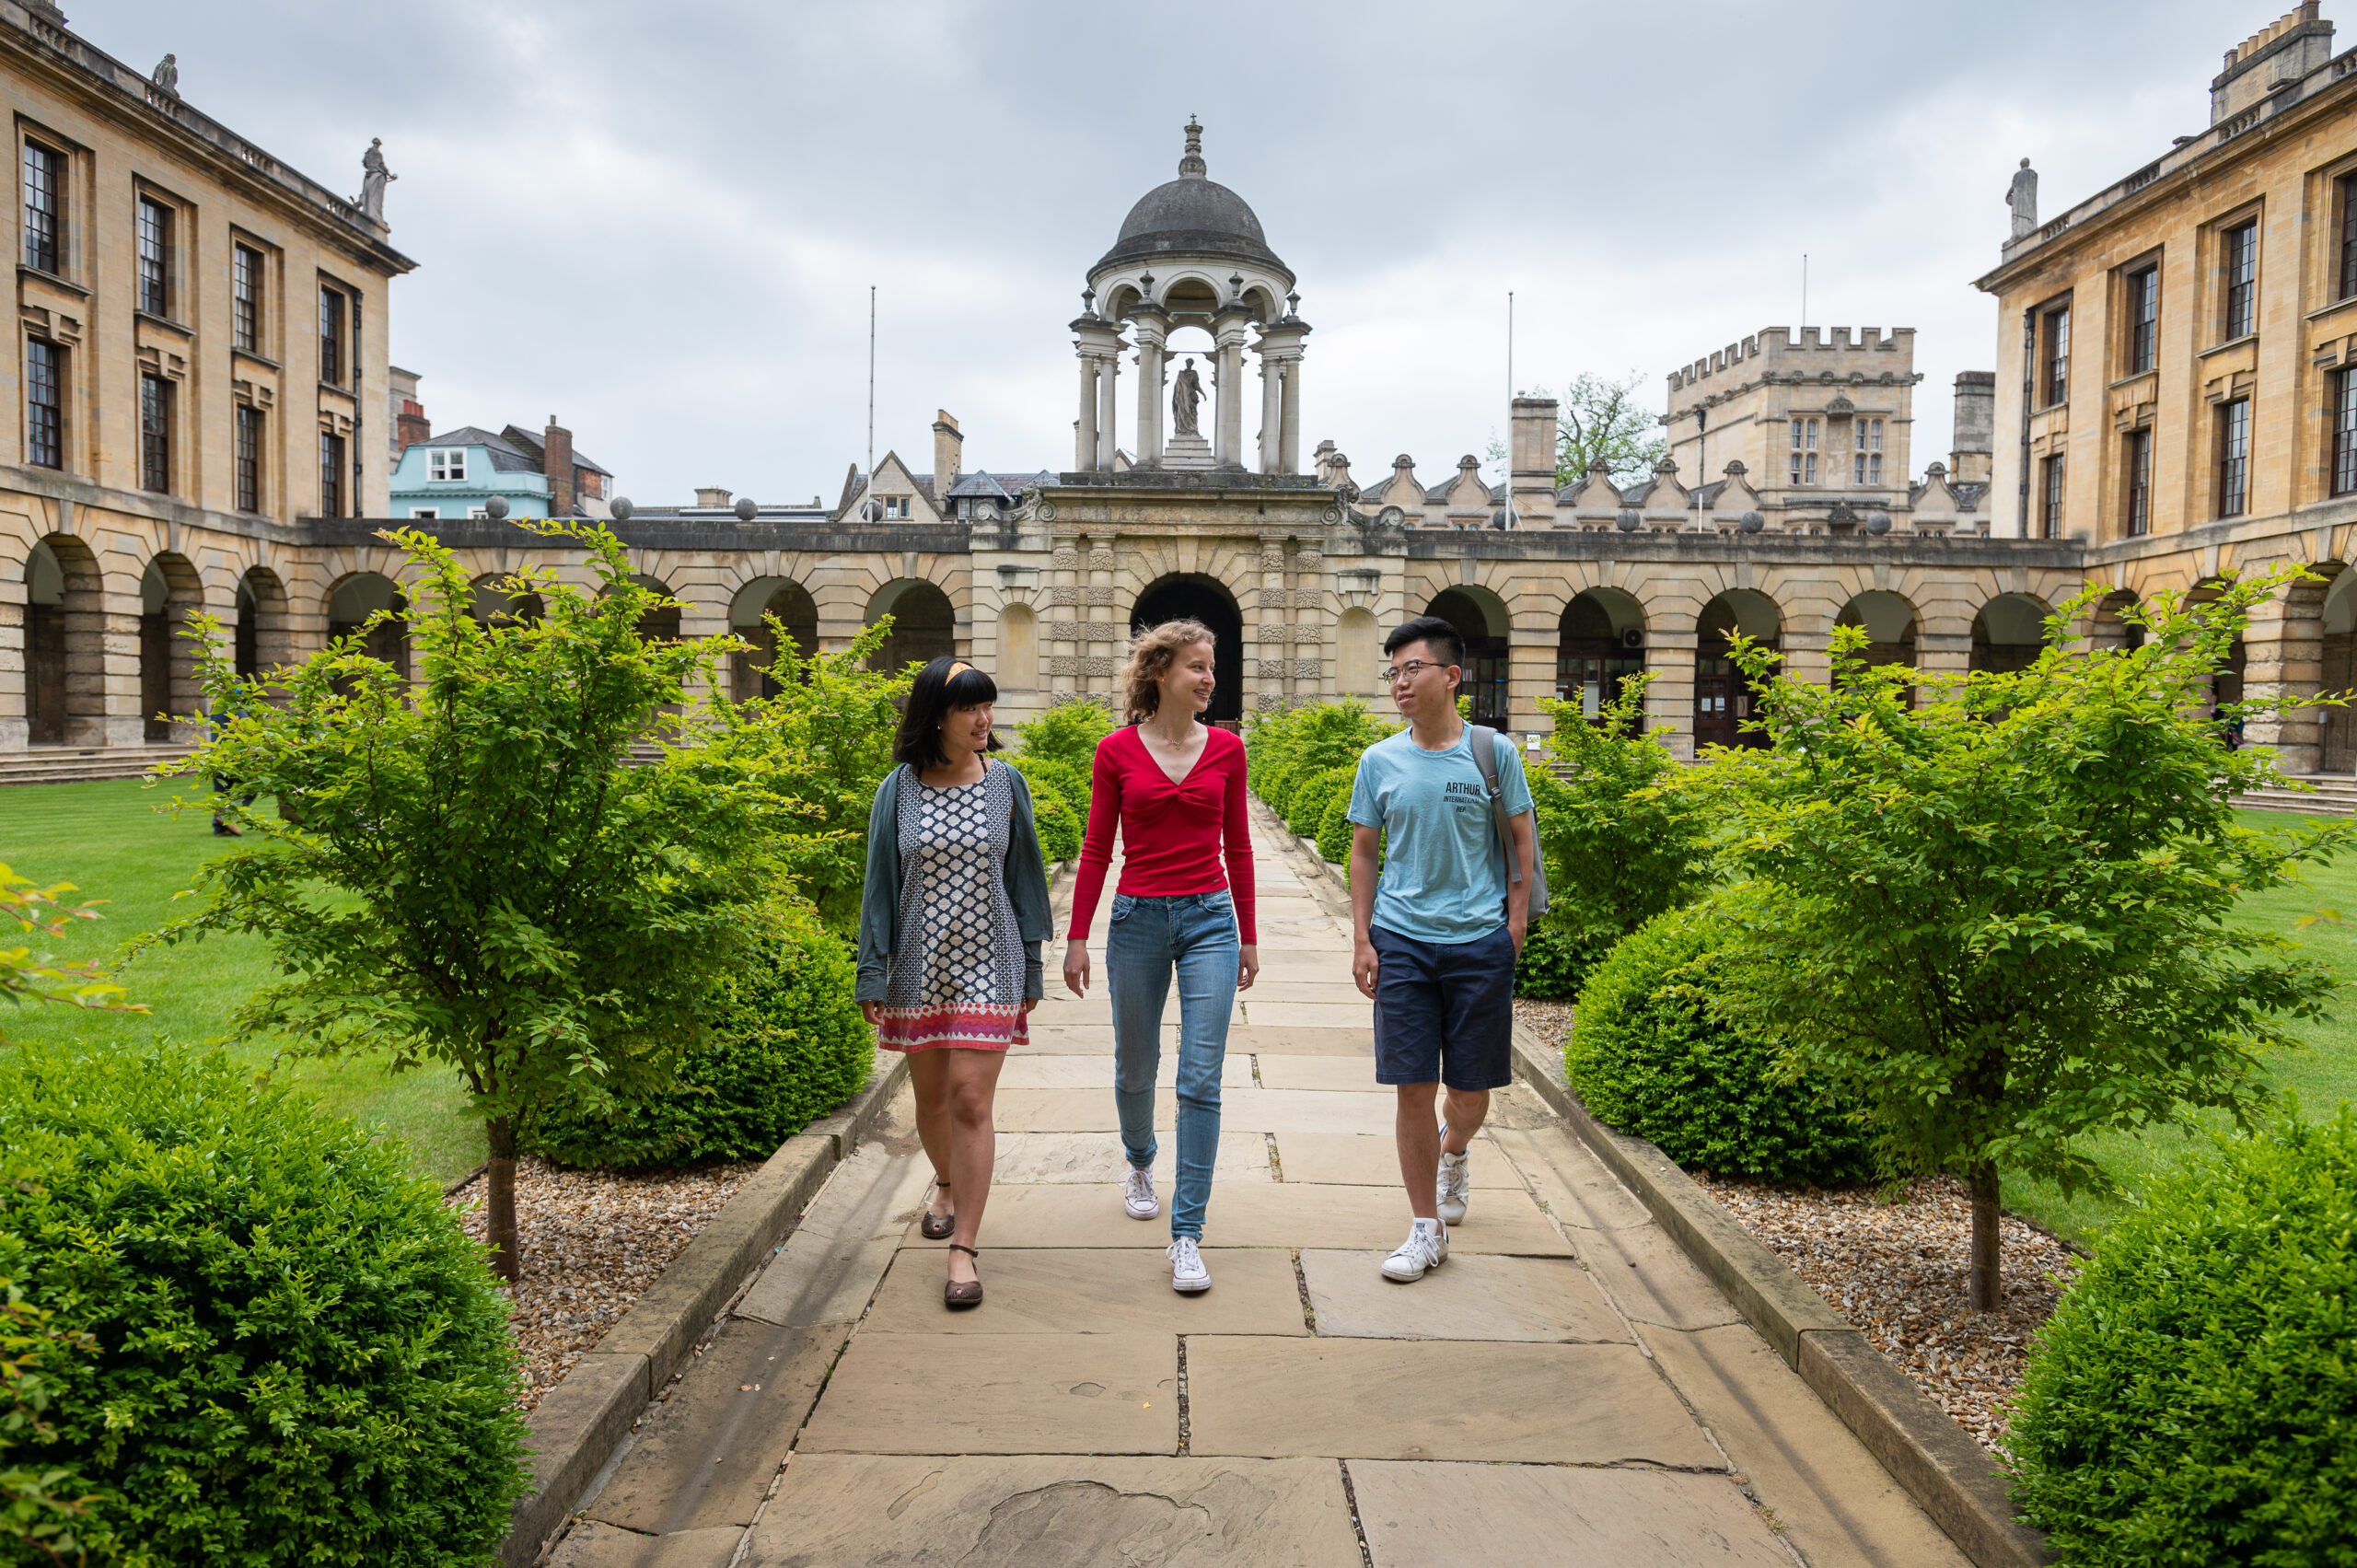
[[[764,960],[714,990],[712,1026],[667,1089],[582,1087],[535,1118],[526,1146],[559,1165],[615,1170],[766,1160],[858,1094],[874,1037],[851,1000],[851,948],[808,905],[780,908],[773,922]]]

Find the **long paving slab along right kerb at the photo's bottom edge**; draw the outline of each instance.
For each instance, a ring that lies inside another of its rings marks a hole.
[[[1751,1325],[1645,1344],[1810,1568],[1966,1568],[1968,1559]]]

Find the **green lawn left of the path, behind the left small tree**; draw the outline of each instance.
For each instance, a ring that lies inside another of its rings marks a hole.
[[[64,941],[42,941],[64,957],[104,957],[123,941],[186,915],[193,903],[172,894],[193,882],[196,868],[233,839],[212,837],[200,811],[170,811],[174,785],[191,795],[193,780],[167,780],[153,790],[137,780],[14,785],[0,788],[0,863],[38,887],[73,882],[68,901],[104,898],[104,920],[75,922]],[[0,931],[9,946],[14,927]],[[92,1014],[68,1007],[0,1012],[7,1040],[87,1040],[141,1045],[165,1035],[181,1045],[222,1042],[233,1059],[278,1080],[302,1082],[323,1108],[351,1113],[389,1137],[403,1139],[420,1170],[450,1181],[483,1158],[483,1132],[462,1115],[457,1078],[441,1068],[391,1075],[370,1059],[285,1061],[273,1066],[273,1042],[229,1042],[229,1014],[240,997],[273,979],[269,953],[250,936],[212,936],[200,943],[156,948],[125,964],[115,979],[132,1002],[151,1012]]]

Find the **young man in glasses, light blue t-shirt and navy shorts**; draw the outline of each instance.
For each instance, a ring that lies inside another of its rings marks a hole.
[[[1414,1224],[1384,1278],[1421,1280],[1466,1217],[1466,1146],[1490,1089],[1513,1082],[1513,964],[1530,922],[1530,780],[1494,736],[1499,799],[1523,875],[1506,875],[1490,788],[1457,717],[1464,637],[1419,615],[1384,639],[1407,729],[1358,759],[1351,785],[1351,974],[1374,997],[1374,1080],[1400,1092],[1400,1177]],[[1391,835],[1376,884],[1376,835]],[[1447,1122],[1433,1092],[1447,1085]]]

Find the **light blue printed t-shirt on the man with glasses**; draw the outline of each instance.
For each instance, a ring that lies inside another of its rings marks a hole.
[[[1492,733],[1506,816],[1523,816],[1530,811],[1523,755]],[[1351,783],[1351,821],[1388,835],[1374,924],[1438,943],[1480,941],[1506,924],[1506,856],[1473,762],[1471,724],[1445,752],[1426,752],[1405,729],[1369,745]]]

